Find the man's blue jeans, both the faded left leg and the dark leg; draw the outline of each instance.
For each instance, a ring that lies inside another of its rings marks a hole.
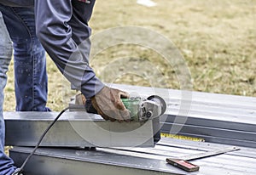
[[[15,171],[14,162],[4,154],[3,88],[6,85],[9,62],[15,54],[16,110],[48,111],[47,74],[44,48],[36,37],[32,8],[10,8],[0,4],[0,175]],[[3,20],[5,24],[3,23]],[[7,25],[8,31],[6,31]]]

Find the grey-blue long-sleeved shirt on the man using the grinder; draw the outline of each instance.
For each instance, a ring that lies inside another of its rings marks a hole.
[[[35,8],[37,36],[55,65],[90,99],[105,86],[89,65],[88,21],[95,0],[0,0],[15,7]]]

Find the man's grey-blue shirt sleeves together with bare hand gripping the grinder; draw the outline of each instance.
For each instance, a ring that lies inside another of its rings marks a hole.
[[[36,0],[34,4],[28,0],[0,0],[0,9],[4,12],[4,7],[34,5],[37,36],[61,73],[87,100],[91,100],[97,113],[104,119],[129,121],[129,111],[120,99],[129,95],[105,86],[89,66],[88,21],[94,3],[95,0]],[[3,16],[7,24],[11,23],[9,16]]]

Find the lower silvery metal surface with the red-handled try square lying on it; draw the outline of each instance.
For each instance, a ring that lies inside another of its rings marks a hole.
[[[155,148],[97,148],[96,151],[81,149],[39,149],[25,167],[27,175],[253,175],[256,174],[256,151],[241,147],[241,150],[216,155],[197,161],[199,172],[183,172],[166,163],[167,157],[183,157],[208,150],[226,148],[230,145],[209,144],[162,138]],[[15,164],[20,166],[31,148],[16,147],[10,150]]]

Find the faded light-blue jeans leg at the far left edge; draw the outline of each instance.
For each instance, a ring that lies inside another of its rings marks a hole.
[[[0,175],[10,175],[15,171],[14,162],[4,154],[5,127],[3,121],[3,88],[6,85],[9,62],[12,56],[12,45],[8,31],[0,13]]]

